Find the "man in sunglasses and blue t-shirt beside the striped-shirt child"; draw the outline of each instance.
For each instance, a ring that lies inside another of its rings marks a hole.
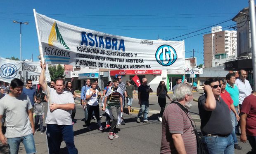
[[[22,93],[28,95],[31,105],[34,107],[36,101],[36,90],[32,87],[32,80],[28,79],[26,87],[23,88]],[[32,110],[33,112],[33,110]]]

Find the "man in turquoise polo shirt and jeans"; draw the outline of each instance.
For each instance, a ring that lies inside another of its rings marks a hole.
[[[240,108],[239,108],[239,90],[237,85],[235,85],[235,74],[234,73],[229,73],[226,75],[226,80],[227,80],[227,86],[225,88],[225,90],[227,90],[227,92],[230,94],[232,100],[233,100],[233,105],[235,106],[235,110],[237,112],[237,114],[240,113]],[[232,127],[233,127],[233,131],[235,131],[235,128],[237,126],[237,118],[235,117],[235,113],[230,112],[231,114],[231,122],[232,122]],[[237,136],[234,136],[234,141],[237,141]],[[242,147],[238,144],[235,143],[235,149],[239,149],[241,150]]]

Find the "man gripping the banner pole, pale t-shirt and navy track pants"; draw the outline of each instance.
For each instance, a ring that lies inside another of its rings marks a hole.
[[[63,138],[69,154],[77,154],[78,151],[74,144],[71,120],[71,110],[75,108],[73,95],[71,92],[64,91],[64,80],[61,78],[56,80],[55,89],[47,86],[43,75],[43,69],[46,68],[46,64],[40,64],[40,66],[42,67],[42,71],[39,76],[39,84],[51,101],[51,104],[48,102],[47,116],[45,119],[49,153],[59,153]]]

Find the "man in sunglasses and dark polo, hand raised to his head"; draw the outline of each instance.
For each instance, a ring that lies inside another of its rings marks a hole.
[[[201,118],[202,142],[210,154],[233,154],[232,122],[228,105],[220,98],[219,78],[209,78],[204,83],[205,94],[198,99]]]

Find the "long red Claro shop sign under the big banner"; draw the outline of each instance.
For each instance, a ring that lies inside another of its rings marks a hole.
[[[162,70],[161,69],[152,69],[152,70],[114,70],[114,71],[110,71],[110,76],[115,76],[116,74],[120,74],[120,75],[162,74]]]

